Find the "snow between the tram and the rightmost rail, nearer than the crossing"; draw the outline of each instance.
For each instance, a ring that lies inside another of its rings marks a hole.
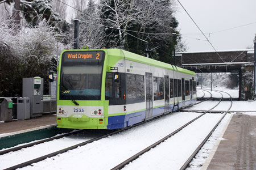
[[[111,169],[197,116],[199,113],[173,113],[23,169],[72,169],[73,165],[76,165],[76,169]],[[168,169],[171,165],[171,168],[179,169],[221,116],[206,114],[126,168]]]

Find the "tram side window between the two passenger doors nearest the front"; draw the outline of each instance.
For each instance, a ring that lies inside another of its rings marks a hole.
[[[164,99],[164,79],[154,76],[154,100]]]

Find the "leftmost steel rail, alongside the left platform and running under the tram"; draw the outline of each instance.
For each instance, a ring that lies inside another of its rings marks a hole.
[[[51,138],[47,138],[47,139],[42,139],[42,140],[40,140],[40,141],[28,143],[28,144],[26,144],[26,145],[16,146],[16,147],[13,147],[13,148],[9,148],[9,149],[7,149],[7,150],[0,151],[0,155],[7,154],[7,153],[9,153],[9,152],[18,151],[18,150],[21,150],[22,148],[31,147],[31,146],[34,146],[34,145],[38,145],[38,144],[40,144],[40,143],[53,141],[54,139],[60,139],[60,138],[63,138],[63,137],[67,137],[67,136],[69,136],[69,135],[79,133],[79,132],[81,132],[82,130],[84,130],[84,129],[72,131],[72,132],[69,132],[69,133],[61,134],[61,135],[58,135],[58,136],[55,136],[55,137],[51,137]]]

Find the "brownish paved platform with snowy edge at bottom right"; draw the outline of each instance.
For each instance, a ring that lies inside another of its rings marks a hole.
[[[201,169],[256,169],[256,115],[233,114]]]

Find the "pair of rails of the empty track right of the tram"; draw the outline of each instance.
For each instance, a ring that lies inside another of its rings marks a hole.
[[[221,94],[220,91],[217,91],[218,93]],[[230,96],[230,95],[229,95]],[[212,97],[212,95],[211,95]],[[152,145],[148,146],[147,148],[144,148],[142,151],[138,152],[137,154],[131,156],[130,158],[126,159],[125,161],[123,161],[122,163],[116,165],[114,168],[112,168],[111,170],[117,170],[117,169],[122,169],[123,167],[125,167],[125,165],[132,163],[134,160],[136,160],[137,158],[139,158],[139,156],[142,156],[143,154],[145,154],[146,152],[150,151],[152,148],[155,148],[156,146],[160,145],[160,143],[166,141],[168,138],[171,138],[172,136],[174,136],[175,134],[177,134],[179,131],[183,130],[185,127],[187,127],[188,125],[192,124],[192,122],[198,120],[200,117],[204,116],[205,114],[209,113],[210,110],[216,108],[222,101],[223,99],[223,95],[221,94],[221,98],[218,101],[218,103],[216,105],[214,105],[214,107],[210,108],[208,111],[205,111],[203,114],[201,114],[200,116],[197,116],[196,118],[194,118],[193,120],[189,121],[187,124],[181,126],[180,128],[176,129],[175,131],[173,131],[172,133],[168,134],[166,137],[160,139],[159,141],[153,143]],[[229,107],[229,109],[225,112],[224,116],[221,117],[221,119],[217,122],[217,124],[213,127],[213,129],[209,132],[209,134],[207,135],[207,137],[204,138],[204,140],[200,143],[200,145],[196,148],[196,150],[193,152],[193,154],[191,156],[189,156],[189,158],[187,159],[187,161],[183,164],[183,166],[180,169],[185,169],[188,167],[188,164],[191,162],[191,160],[195,157],[195,155],[199,152],[200,148],[204,145],[204,143],[208,140],[208,138],[210,137],[210,135],[212,135],[213,131],[217,128],[217,126],[220,124],[220,122],[222,121],[222,119],[226,116],[226,114],[228,113],[228,111],[230,110],[230,108],[232,107],[232,97],[230,96],[230,101],[231,101],[231,105]]]

